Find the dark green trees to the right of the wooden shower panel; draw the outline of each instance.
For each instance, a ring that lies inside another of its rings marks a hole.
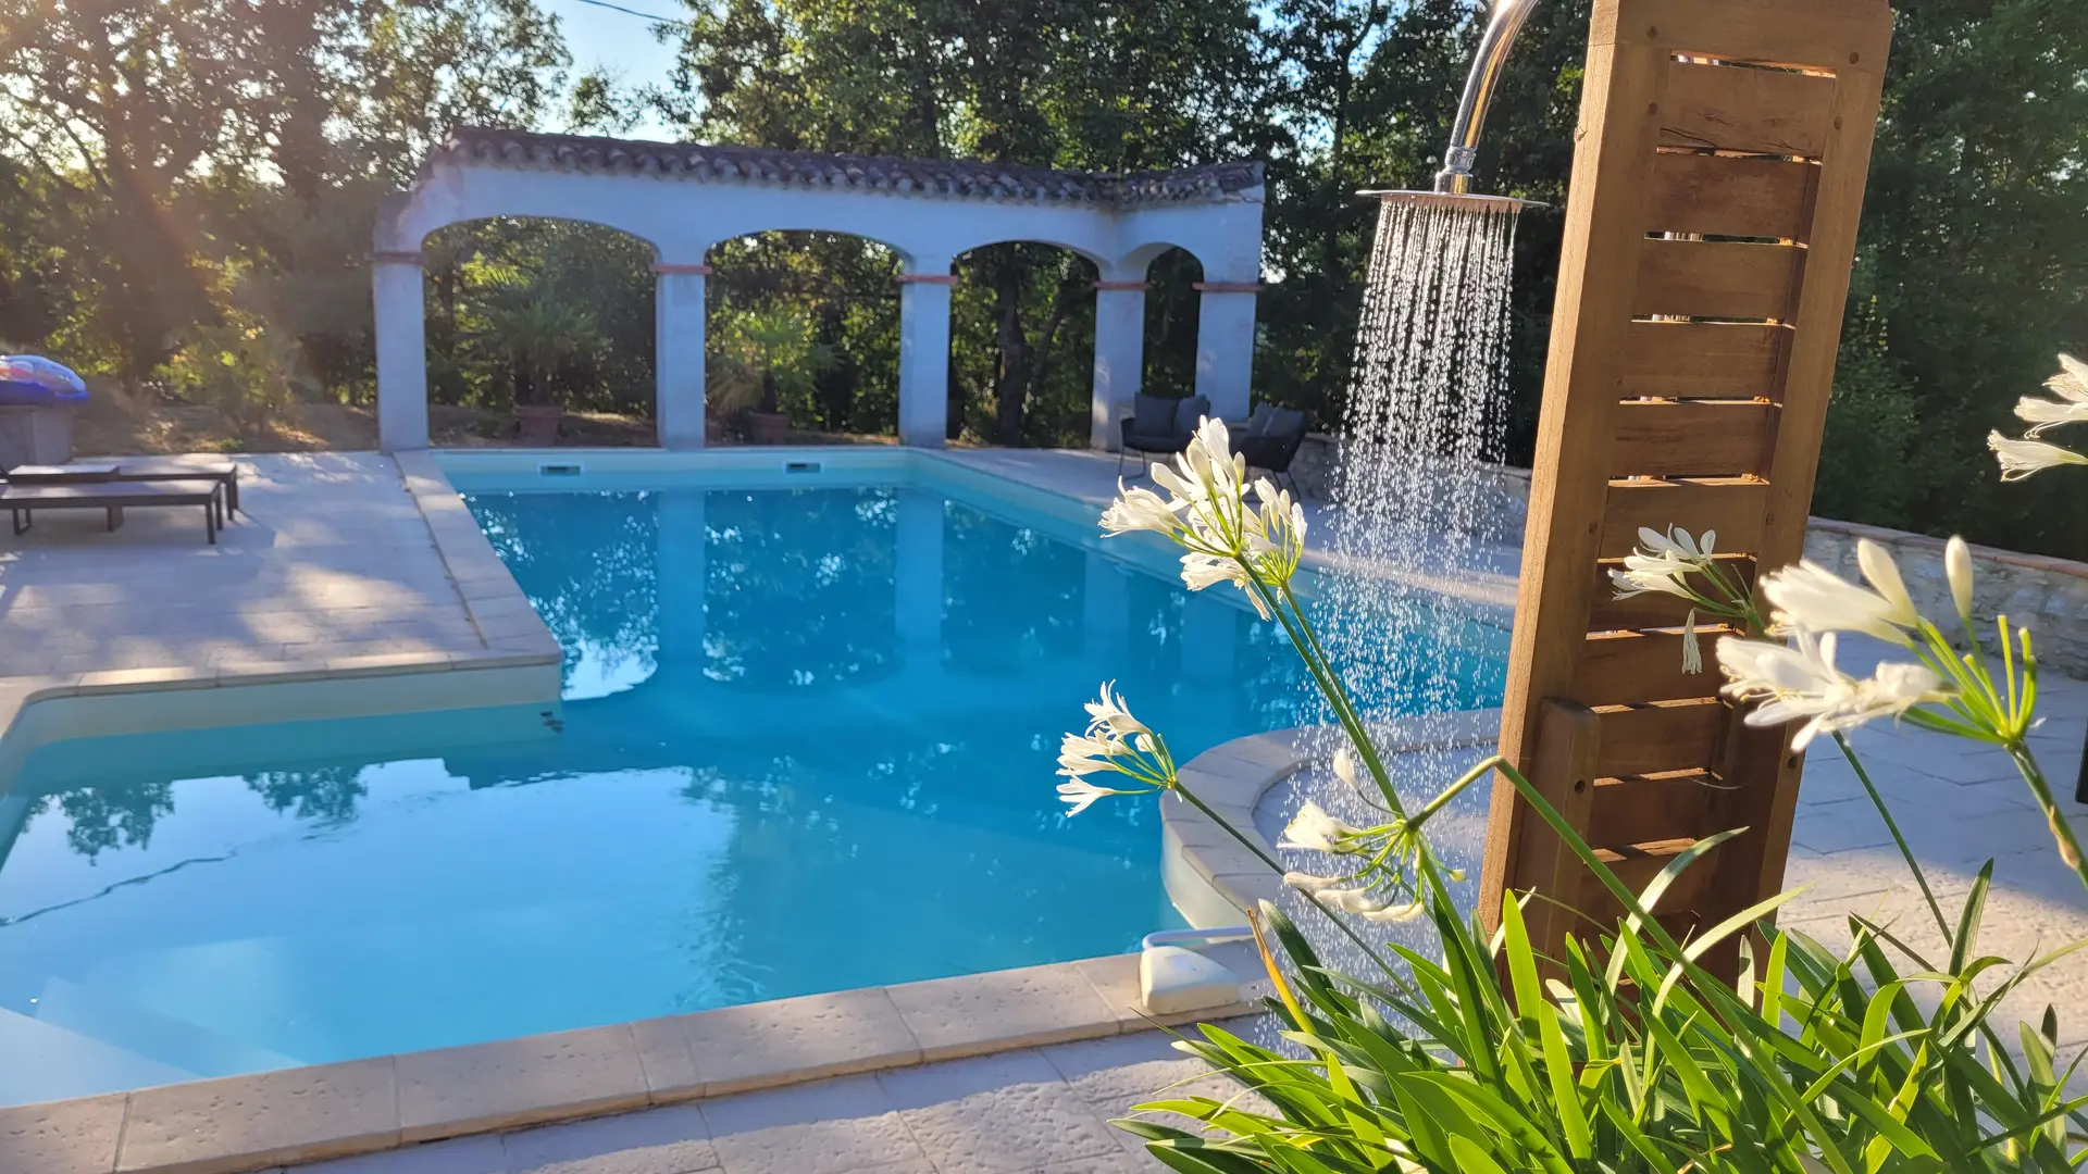
[[[2057,370],[2057,351],[2088,347],[2088,8],[1896,10],[1850,315],[1883,351],[1844,368],[1823,464],[1917,470],[1917,487],[1823,487],[1819,510],[2088,558],[2078,489],[2004,487],[1984,449],[1988,428],[2009,428],[2015,399]],[[1862,435],[1862,414],[1879,409],[1913,422],[1888,451]]]

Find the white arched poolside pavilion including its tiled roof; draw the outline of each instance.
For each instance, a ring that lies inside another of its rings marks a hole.
[[[378,422],[384,451],[428,447],[422,240],[501,215],[628,232],[658,274],[660,443],[704,445],[704,263],[712,244],[770,230],[846,232],[900,255],[900,443],[942,447],[948,414],[950,263],[981,244],[1059,244],[1100,269],[1094,307],[1096,447],[1144,368],[1146,267],[1167,249],[1203,263],[1196,393],[1249,409],[1261,274],[1261,165],[1130,175],[973,161],[873,159],[697,142],[626,142],[461,130],[378,215],[374,251]]]

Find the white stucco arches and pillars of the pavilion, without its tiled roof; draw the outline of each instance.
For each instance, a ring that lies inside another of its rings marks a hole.
[[[1257,186],[1224,196],[1119,209],[1071,201],[555,171],[436,157],[413,190],[395,196],[378,215],[374,297],[382,447],[397,451],[428,445],[422,290],[411,259],[430,232],[451,224],[501,215],[601,224],[651,244],[662,267],[702,265],[712,244],[777,230],[862,236],[896,251],[904,274],[929,276],[948,274],[954,257],[981,244],[1027,240],[1088,257],[1102,282],[1142,282],[1155,257],[1167,249],[1186,249],[1203,263],[1205,282],[1249,286],[1261,272],[1261,194]],[[704,443],[702,278],[662,278],[660,292],[660,386],[662,395],[674,399],[660,405],[662,443],[697,447]],[[1199,345],[1196,382],[1201,391],[1215,393],[1213,405],[1224,401],[1228,416],[1247,409],[1253,303],[1251,292],[1236,288],[1205,295],[1203,328],[1207,334],[1213,326],[1221,328],[1224,336]],[[948,307],[948,286],[904,286],[900,334],[910,347],[902,347],[900,363],[900,437],[908,445],[942,445]],[[1142,299],[1105,299],[1098,303],[1098,318],[1105,311],[1142,315]],[[1144,324],[1142,318],[1111,326],[1098,322],[1096,334],[1109,349],[1107,363],[1115,372],[1096,386],[1096,420],[1115,420],[1140,384],[1125,374],[1142,361]],[[1096,428],[1096,441],[1113,443],[1107,426]]]

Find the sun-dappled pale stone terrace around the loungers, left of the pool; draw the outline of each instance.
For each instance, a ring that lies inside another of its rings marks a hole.
[[[376,453],[238,457],[242,512],[46,512],[0,545],[0,677],[271,668],[482,652],[399,468]]]

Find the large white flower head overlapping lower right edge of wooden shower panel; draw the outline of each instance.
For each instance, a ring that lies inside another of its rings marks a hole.
[[[1856,543],[1856,562],[1871,587],[1848,583],[1814,562],[1762,579],[1762,597],[1773,608],[1769,631],[1789,637],[1789,643],[1741,637],[1718,641],[1718,666],[1729,677],[1725,694],[1762,702],[1748,714],[1748,725],[1806,721],[1792,739],[1794,750],[1804,750],[1821,733],[1900,717],[1917,704],[1946,702],[1952,696],[1927,664],[1885,662],[1865,679],[1835,668],[1835,633],[1865,633],[1913,648],[1913,633],[1925,625],[1885,547],[1862,539]],[[1944,564],[1959,612],[1969,616],[1971,551],[1963,539],[1950,539]]]

